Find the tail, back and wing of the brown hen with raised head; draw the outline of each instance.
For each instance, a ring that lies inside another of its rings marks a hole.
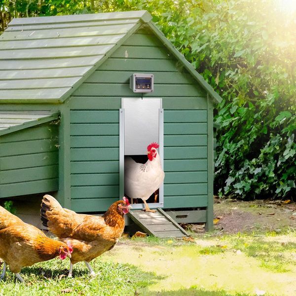
[[[47,226],[60,238],[72,237],[85,241],[96,239],[102,228],[106,226],[104,218],[77,214],[64,209],[54,197],[48,194],[42,199],[41,221],[43,226]]]

